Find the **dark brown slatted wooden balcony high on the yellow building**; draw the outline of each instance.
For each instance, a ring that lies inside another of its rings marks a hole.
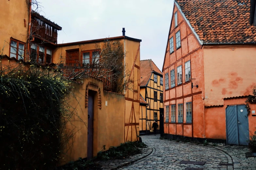
[[[57,44],[58,31],[62,28],[34,11],[31,16],[31,35]]]

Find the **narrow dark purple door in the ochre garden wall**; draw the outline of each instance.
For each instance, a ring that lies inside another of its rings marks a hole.
[[[93,158],[93,96],[88,95],[87,160]]]

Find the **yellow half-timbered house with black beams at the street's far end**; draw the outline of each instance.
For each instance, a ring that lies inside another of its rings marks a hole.
[[[160,108],[163,108],[163,77],[162,72],[151,59],[140,61],[140,69],[140,93],[147,103],[145,111],[141,106],[140,134],[149,134],[152,132],[154,121],[160,124]]]

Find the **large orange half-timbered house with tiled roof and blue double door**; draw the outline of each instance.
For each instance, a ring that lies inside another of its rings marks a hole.
[[[166,136],[248,144],[256,126],[255,111],[247,116],[245,107],[256,85],[249,6],[232,0],[174,2],[162,68]]]

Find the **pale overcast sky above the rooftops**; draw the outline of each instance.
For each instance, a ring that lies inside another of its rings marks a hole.
[[[162,71],[173,0],[39,0],[41,15],[62,27],[58,43],[122,35],[142,39],[141,60]]]

